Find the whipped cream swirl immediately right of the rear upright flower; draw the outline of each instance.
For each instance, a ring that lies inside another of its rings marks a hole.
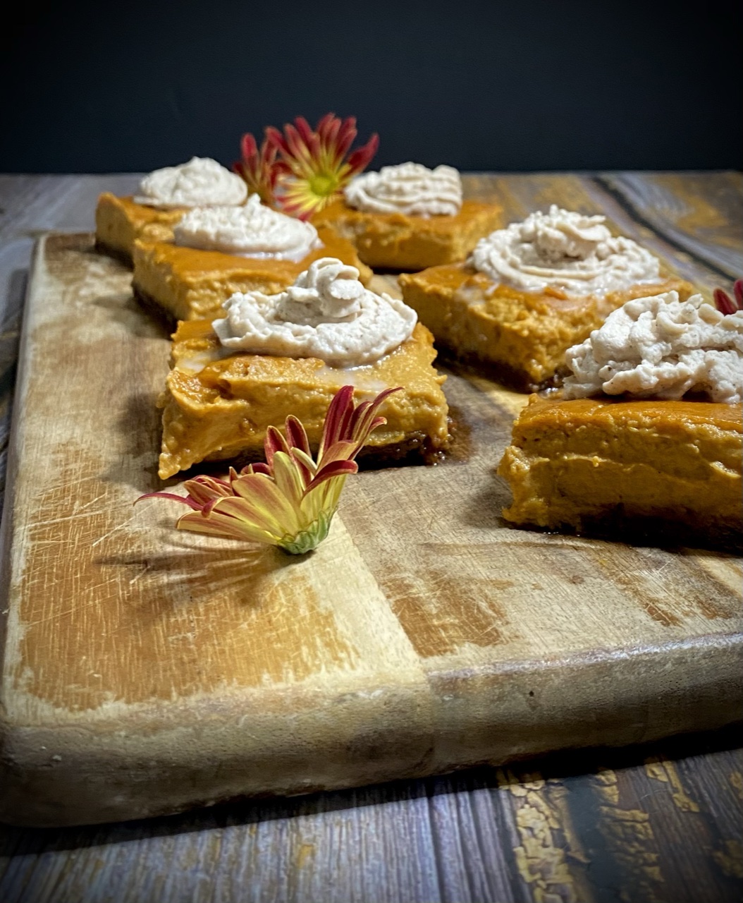
[[[421,163],[400,163],[358,175],[344,195],[349,207],[365,213],[454,216],[462,206],[462,183],[451,166],[430,170]]]

